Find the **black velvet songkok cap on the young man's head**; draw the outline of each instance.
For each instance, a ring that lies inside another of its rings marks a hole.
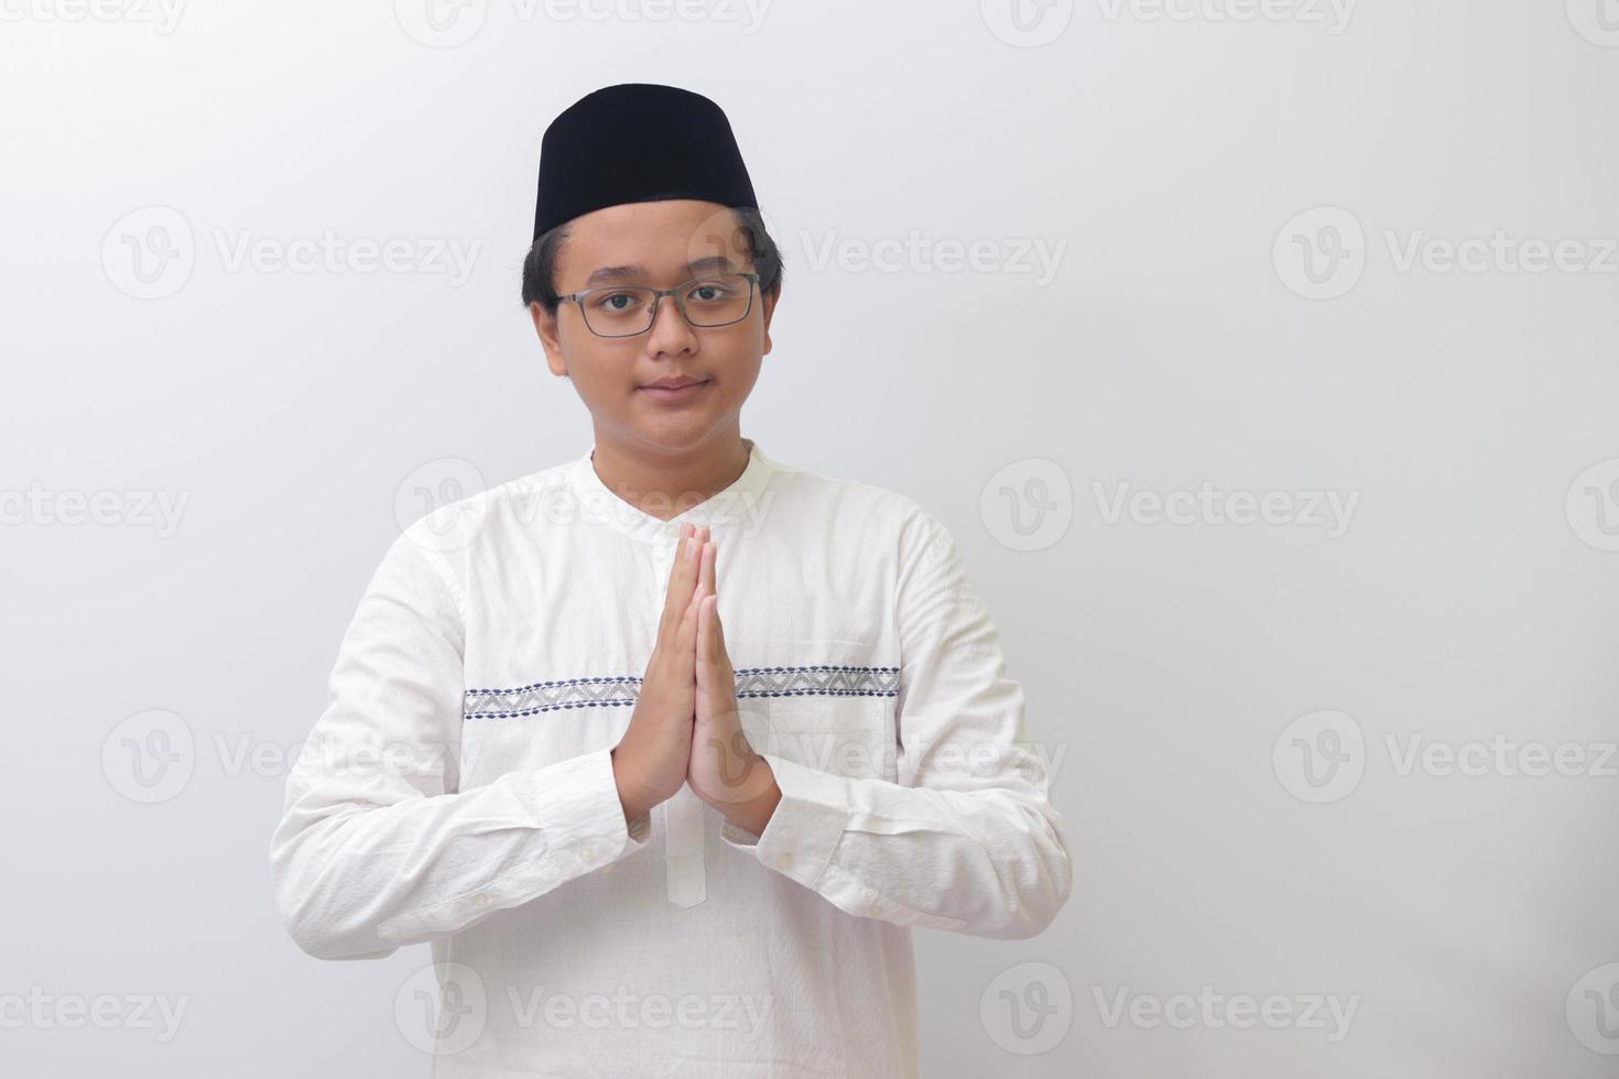
[[[586,94],[546,128],[534,239],[581,214],[656,199],[758,209],[737,136],[709,99],[622,83]]]

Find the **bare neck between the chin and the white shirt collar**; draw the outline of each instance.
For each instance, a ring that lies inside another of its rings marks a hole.
[[[667,521],[735,484],[748,468],[748,446],[740,427],[686,450],[625,442],[597,429],[591,468],[607,490]]]

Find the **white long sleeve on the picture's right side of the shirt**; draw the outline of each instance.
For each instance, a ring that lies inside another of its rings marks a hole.
[[[949,531],[916,508],[900,540],[899,781],[763,752],[782,791],[761,835],[720,836],[839,909],[897,925],[1020,938],[1073,885],[1023,691]]]

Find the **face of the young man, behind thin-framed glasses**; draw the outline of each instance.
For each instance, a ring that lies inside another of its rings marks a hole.
[[[751,270],[730,210],[665,199],[610,205],[570,222],[554,285],[565,296],[602,286],[674,288],[695,277]],[[776,298],[754,286],[753,309],[742,322],[695,327],[674,296],[662,296],[651,330],[604,338],[586,327],[573,301],[563,301],[555,319],[531,304],[547,366],[568,375],[597,432],[667,451],[690,450],[738,425],[742,403],[771,351],[774,309]],[[677,395],[648,388],[674,377],[704,385]]]

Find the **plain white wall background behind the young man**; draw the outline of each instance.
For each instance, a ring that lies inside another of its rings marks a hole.
[[[1073,898],[1033,940],[916,933],[924,1074],[1619,1069],[1619,6],[1020,2],[1051,40],[965,0],[487,0],[442,32],[426,0],[0,0],[0,1001],[186,1008],[165,1039],[6,1005],[6,1074],[426,1074],[393,1000],[427,950],[322,964],[278,924],[275,755],[408,477],[589,445],[518,272],[546,123],[620,81],[727,110],[784,248],[743,434],[936,511],[1064,754]],[[416,260],[232,257],[327,233]],[[476,244],[465,280],[436,241]],[[1575,246],[1532,272],[1523,241]],[[142,804],[149,710],[193,746]],[[1525,744],[1582,764],[1514,775]],[[1033,1039],[1005,987],[1051,1003]],[[1146,1011],[1200,992],[1294,1022]]]

